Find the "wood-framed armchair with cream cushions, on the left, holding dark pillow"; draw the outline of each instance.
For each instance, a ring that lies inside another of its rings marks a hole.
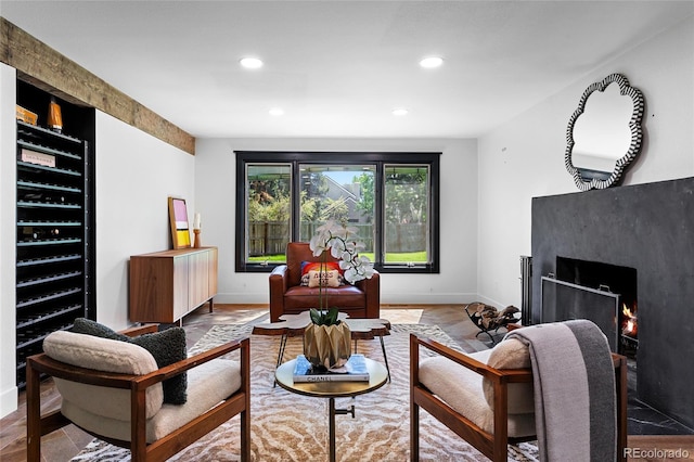
[[[127,335],[151,334],[157,328],[134,328]],[[41,436],[69,423],[127,448],[133,460],[166,460],[239,415],[234,447],[241,460],[248,461],[249,348],[248,338],[228,342],[159,369],[139,345],[68,331],[51,333],[43,341],[44,352],[27,358],[27,460],[41,459]],[[240,360],[221,358],[231,352]],[[163,380],[187,371],[188,402],[164,403]],[[44,415],[41,374],[54,378],[62,397],[61,409]]]

